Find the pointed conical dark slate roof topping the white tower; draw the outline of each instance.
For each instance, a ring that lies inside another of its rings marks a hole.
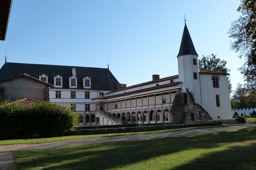
[[[196,49],[194,48],[192,39],[190,37],[188,28],[185,22],[185,27],[184,27],[184,31],[183,31],[183,35],[180,43],[180,48],[179,48],[179,54],[177,55],[177,57],[180,55],[188,55],[188,54],[198,55],[196,52]]]

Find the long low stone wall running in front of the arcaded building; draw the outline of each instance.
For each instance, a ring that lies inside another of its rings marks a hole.
[[[154,126],[148,125],[148,126],[122,127],[122,128],[119,127],[119,128],[106,128],[106,129],[87,129],[87,130],[64,131],[63,136],[149,132],[149,131],[182,129],[182,128],[190,128],[190,127],[202,127],[202,126],[216,126],[216,125],[222,125],[222,124],[221,122],[205,122],[205,123],[171,124],[171,125],[154,125]]]

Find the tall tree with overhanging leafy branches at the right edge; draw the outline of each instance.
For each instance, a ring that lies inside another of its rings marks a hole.
[[[244,57],[245,63],[239,68],[247,82],[246,88],[256,89],[256,0],[241,0],[237,11],[241,13],[238,20],[231,22],[228,31],[234,41],[230,48]]]

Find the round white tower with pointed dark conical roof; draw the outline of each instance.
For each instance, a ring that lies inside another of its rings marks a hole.
[[[186,92],[186,89],[188,89],[193,95],[195,102],[202,105],[198,54],[188,32],[186,22],[177,59],[179,81],[182,82],[180,84],[182,92]]]

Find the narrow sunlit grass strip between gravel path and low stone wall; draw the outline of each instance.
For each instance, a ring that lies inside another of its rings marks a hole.
[[[86,138],[108,137],[108,136],[163,133],[163,132],[171,132],[171,131],[178,131],[178,130],[214,128],[214,127],[219,127],[219,126],[205,126],[205,127],[197,127],[197,128],[195,127],[195,128],[184,128],[184,129],[171,129],[171,130],[161,130],[161,131],[151,131],[151,132],[115,133],[115,134],[100,134],[100,135],[75,135],[75,136],[61,136],[61,137],[52,137],[52,138],[33,138],[33,139],[11,139],[11,140],[0,140],[0,146],[15,145],[15,144],[47,143],[47,142],[56,142],[56,141],[64,141],[64,140],[75,140],[75,139],[86,139]]]

